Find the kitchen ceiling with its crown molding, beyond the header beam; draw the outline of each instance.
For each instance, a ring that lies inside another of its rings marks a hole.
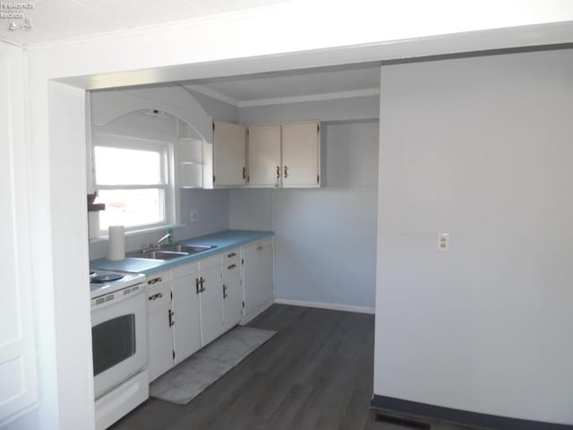
[[[379,92],[380,65],[257,73],[193,82],[185,86],[238,107],[356,97]]]

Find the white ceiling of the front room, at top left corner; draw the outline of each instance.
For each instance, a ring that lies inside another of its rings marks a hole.
[[[0,19],[0,39],[30,45],[233,13],[286,0],[21,0],[18,3],[22,2],[34,7],[2,9],[4,13],[23,13],[23,18]],[[11,21],[21,26],[25,18],[30,19],[32,30],[8,30]]]

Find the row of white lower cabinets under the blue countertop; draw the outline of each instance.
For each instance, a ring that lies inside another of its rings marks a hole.
[[[148,277],[150,382],[272,303],[272,244],[270,238]]]

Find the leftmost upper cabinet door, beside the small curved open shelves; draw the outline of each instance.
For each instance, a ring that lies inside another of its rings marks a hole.
[[[244,125],[213,121],[215,186],[245,184],[245,141]]]

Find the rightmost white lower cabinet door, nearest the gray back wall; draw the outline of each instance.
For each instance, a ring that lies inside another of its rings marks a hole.
[[[244,317],[247,323],[273,301],[272,239],[243,248]]]

